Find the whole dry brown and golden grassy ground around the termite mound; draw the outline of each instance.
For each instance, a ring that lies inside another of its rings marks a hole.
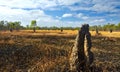
[[[92,35],[94,72],[120,72],[120,32]],[[69,72],[77,30],[0,32],[0,72]]]

